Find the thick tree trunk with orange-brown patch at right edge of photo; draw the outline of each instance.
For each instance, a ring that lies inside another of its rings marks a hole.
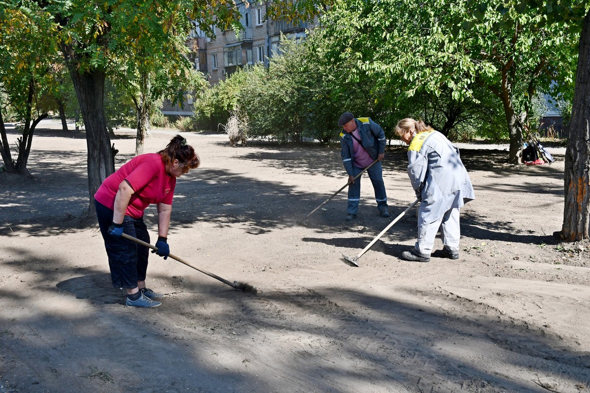
[[[565,151],[565,206],[562,237],[588,239],[590,226],[590,11],[580,35],[578,71]]]

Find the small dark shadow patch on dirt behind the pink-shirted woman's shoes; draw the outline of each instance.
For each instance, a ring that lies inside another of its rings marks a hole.
[[[76,299],[87,299],[92,303],[123,304],[126,292],[114,288],[109,273],[96,273],[74,277],[57,283],[57,289],[76,295]]]

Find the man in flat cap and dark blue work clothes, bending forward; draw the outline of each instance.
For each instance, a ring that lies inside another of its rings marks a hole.
[[[340,133],[342,147],[342,163],[348,173],[348,209],[345,221],[356,219],[356,212],[360,202],[360,178],[353,180],[360,172],[371,166],[367,173],[373,183],[375,200],[381,217],[391,217],[387,207],[387,194],[383,184],[383,167],[381,160],[385,157],[385,133],[379,124],[369,117],[355,116],[345,112],[338,120],[338,126],[343,128]],[[375,162],[373,164],[373,162]]]

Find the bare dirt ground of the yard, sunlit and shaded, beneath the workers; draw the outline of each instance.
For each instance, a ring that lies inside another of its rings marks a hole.
[[[460,145],[476,190],[460,259],[399,259],[415,242],[405,149],[386,152],[391,219],[363,177],[343,222],[339,147],[183,133],[202,166],[179,179],[171,252],[150,256],[162,306],[124,305],[88,199],[86,140],[53,120],[35,134],[33,179],[0,173],[0,392],[590,392],[590,246],[559,243],[563,149],[511,166],[506,146]],[[12,140],[17,137],[9,130]],[[146,151],[174,130],[153,130]],[[133,131],[113,140],[116,167]],[[156,233],[155,209],[146,210]],[[153,242],[152,242],[153,243]],[[437,239],[435,248],[441,248]]]

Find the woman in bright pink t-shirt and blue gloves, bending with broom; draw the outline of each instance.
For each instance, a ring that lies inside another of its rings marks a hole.
[[[194,148],[182,136],[172,138],[158,153],[136,156],[107,177],[94,194],[94,205],[109,257],[113,286],[127,290],[127,306],[157,307],[153,300],[159,295],[146,288],[148,247],[123,239],[121,235],[150,242],[143,212],[150,204],[158,209],[158,250],[152,251],[164,259],[170,247],[168,227],[172,213],[172,198],[176,178],[201,164]]]

